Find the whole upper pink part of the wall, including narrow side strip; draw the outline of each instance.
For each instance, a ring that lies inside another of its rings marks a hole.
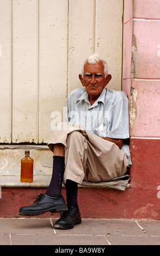
[[[125,0],[123,90],[131,137],[160,137],[160,0]]]

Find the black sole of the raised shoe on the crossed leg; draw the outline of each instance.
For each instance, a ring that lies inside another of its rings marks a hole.
[[[50,209],[44,209],[41,211],[19,211],[19,215],[22,216],[36,216],[36,215],[41,215],[41,214],[45,214],[46,212],[50,211],[53,213],[55,212],[60,212],[60,211],[66,211],[67,210],[67,205],[59,205],[59,206],[54,206]]]

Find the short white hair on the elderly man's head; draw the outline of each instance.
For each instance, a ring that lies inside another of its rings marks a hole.
[[[96,64],[96,63],[102,62],[103,66],[104,66],[103,72],[104,72],[105,77],[107,77],[107,75],[108,75],[108,64],[107,64],[106,60],[102,59],[99,56],[99,54],[97,54],[97,53],[94,53],[94,54],[90,55],[87,59],[84,60],[83,65],[82,65],[82,70],[81,70],[82,77],[83,77],[83,73],[84,73],[84,65],[87,62],[89,64]]]

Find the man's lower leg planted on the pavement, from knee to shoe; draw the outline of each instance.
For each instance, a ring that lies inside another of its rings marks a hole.
[[[82,222],[77,202],[77,182],[83,180],[83,167],[87,157],[87,142],[80,132],[74,131],[67,136],[66,144],[64,181],[68,210],[63,212],[59,220],[54,224],[54,228],[59,229],[71,229],[75,224]]]

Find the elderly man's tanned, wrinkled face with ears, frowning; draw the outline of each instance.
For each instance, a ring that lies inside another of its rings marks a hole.
[[[105,77],[103,70],[104,66],[102,62],[96,64],[85,63],[83,78],[79,75],[79,79],[89,95],[100,95],[103,88],[107,86],[112,78],[111,75]]]

